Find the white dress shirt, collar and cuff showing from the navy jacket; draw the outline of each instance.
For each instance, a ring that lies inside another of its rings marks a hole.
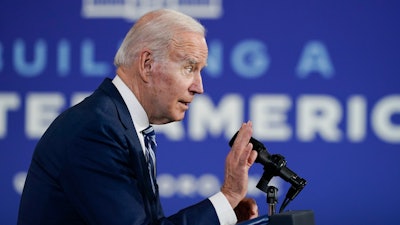
[[[118,75],[115,76],[112,82],[118,89],[128,107],[133,125],[136,128],[137,136],[139,137],[140,144],[142,145],[143,153],[145,154],[144,138],[141,132],[150,125],[149,118],[147,117],[143,106],[139,103],[136,96]],[[214,206],[221,225],[236,224],[237,219],[235,212],[222,192],[218,192],[211,196],[209,200]]]

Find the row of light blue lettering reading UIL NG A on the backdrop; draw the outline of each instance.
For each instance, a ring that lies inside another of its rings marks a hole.
[[[101,55],[98,50],[102,50],[95,45],[91,38],[84,38],[78,46],[73,46],[67,38],[60,38],[57,43],[49,42],[45,39],[38,39],[32,46],[27,45],[23,39],[15,39],[14,43],[0,43],[0,71],[7,65],[6,52],[7,46],[12,46],[9,50],[12,54],[10,62],[16,74],[22,77],[37,77],[44,73],[56,74],[59,77],[70,75],[73,63],[79,65],[81,75],[84,77],[104,77],[112,73],[112,62],[102,61],[96,58]],[[115,45],[119,46],[119,42]],[[77,55],[73,55],[72,49],[77,49]],[[33,49],[32,54],[28,54],[29,49]],[[51,53],[55,55],[51,56]],[[226,54],[225,54],[226,53]],[[29,57],[32,55],[32,57]],[[225,60],[227,55],[229,60]],[[77,60],[72,60],[72,57]],[[48,59],[54,59],[56,65],[54,71],[48,71],[53,67],[48,66]],[[229,61],[229,65],[224,66],[224,61]],[[244,39],[232,45],[232,49],[225,48],[219,39],[209,40],[209,59],[208,66],[204,69],[204,74],[212,78],[220,78],[224,73],[224,68],[231,67],[233,75],[244,79],[254,79],[265,76],[271,66],[272,57],[269,55],[267,44],[260,39]],[[297,64],[296,73],[298,77],[305,78],[311,73],[319,73],[325,78],[334,75],[334,67],[329,57],[327,47],[321,41],[308,41],[302,51]]]

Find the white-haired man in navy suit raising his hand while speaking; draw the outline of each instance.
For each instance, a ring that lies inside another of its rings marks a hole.
[[[18,224],[213,225],[256,217],[255,201],[245,198],[257,157],[251,122],[227,155],[219,193],[170,217],[160,205],[154,145],[142,132],[184,118],[203,93],[207,55],[204,28],[193,18],[171,10],[140,18],[115,56],[117,76],[62,113],[38,142]]]

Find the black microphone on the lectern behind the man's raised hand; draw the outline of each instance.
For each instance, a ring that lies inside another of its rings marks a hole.
[[[239,131],[236,132],[236,134],[229,141],[229,146],[232,147],[238,133]],[[268,183],[271,178],[273,176],[279,176],[292,185],[286,195],[286,198],[288,200],[293,200],[307,184],[307,181],[299,177],[295,172],[286,166],[287,162],[285,157],[279,154],[269,154],[267,148],[260,141],[253,137],[250,138],[250,143],[253,144],[253,150],[258,152],[256,163],[260,163],[264,166],[264,174],[260,182],[257,184],[257,188],[267,192]]]

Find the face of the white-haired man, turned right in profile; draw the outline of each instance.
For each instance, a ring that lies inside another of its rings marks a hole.
[[[201,70],[207,62],[205,38],[182,33],[172,41],[164,62],[155,62],[152,73],[150,123],[182,120],[195,94],[203,93]]]

